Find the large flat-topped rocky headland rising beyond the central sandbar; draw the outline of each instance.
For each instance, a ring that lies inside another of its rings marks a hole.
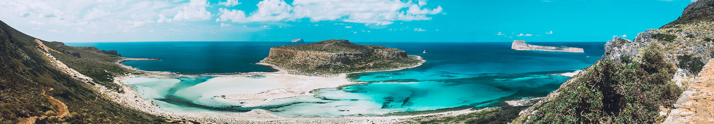
[[[347,40],[326,40],[270,49],[262,63],[289,73],[309,76],[335,75],[361,71],[386,71],[416,66],[421,60],[405,51],[383,46],[357,45]]]

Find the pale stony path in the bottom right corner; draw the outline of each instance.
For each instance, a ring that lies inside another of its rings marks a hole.
[[[714,123],[714,59],[685,89],[663,123]]]

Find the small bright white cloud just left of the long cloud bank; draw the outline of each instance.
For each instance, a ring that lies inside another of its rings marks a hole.
[[[204,21],[211,19],[211,12],[206,11],[208,1],[191,0],[186,4],[178,6],[179,11],[174,16],[174,21]]]

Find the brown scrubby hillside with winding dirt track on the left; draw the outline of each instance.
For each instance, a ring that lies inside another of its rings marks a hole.
[[[84,59],[77,59],[79,56]],[[19,123],[20,120],[36,123],[163,121],[160,117],[127,109],[102,98],[93,90],[95,87],[91,85],[102,84],[102,81],[97,79],[101,76],[94,76],[96,73],[92,72],[111,72],[109,68],[119,67],[116,63],[109,64],[114,59],[119,57],[37,40],[0,21],[0,123]],[[80,65],[105,66],[77,68]],[[42,94],[50,89],[54,90]],[[52,116],[56,118],[42,118]]]

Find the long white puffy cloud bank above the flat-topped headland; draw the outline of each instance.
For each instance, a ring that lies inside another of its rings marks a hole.
[[[387,25],[393,21],[431,20],[428,15],[441,14],[443,9],[426,8],[426,1],[399,0],[295,0],[287,4],[283,0],[264,0],[258,9],[249,15],[233,13],[241,10],[220,11],[220,15],[233,15],[236,19],[221,18],[217,21],[346,21],[361,24]],[[241,18],[243,17],[243,18]]]

